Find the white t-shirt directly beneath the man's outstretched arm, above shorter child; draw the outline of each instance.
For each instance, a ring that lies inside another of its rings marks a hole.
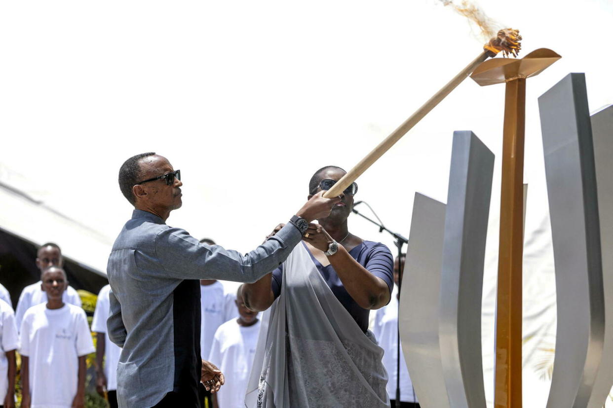
[[[213,344],[213,336],[224,322],[238,317],[236,307],[236,288],[216,281],[210,285],[200,285],[200,355],[208,358]]]

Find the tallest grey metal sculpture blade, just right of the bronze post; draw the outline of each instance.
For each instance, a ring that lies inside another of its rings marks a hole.
[[[558,324],[547,407],[587,406],[604,341],[600,222],[585,76],[539,97]]]

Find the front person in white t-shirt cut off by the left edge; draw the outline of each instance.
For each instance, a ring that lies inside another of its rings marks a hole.
[[[15,350],[19,336],[15,326],[15,313],[9,303],[0,299],[0,403],[2,408],[15,408]]]

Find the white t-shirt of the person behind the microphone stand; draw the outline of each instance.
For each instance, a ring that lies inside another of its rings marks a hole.
[[[397,289],[396,287],[394,289]],[[397,355],[398,355],[398,299],[396,299],[397,291],[392,291],[392,299],[387,306],[378,309],[375,312],[375,325],[373,326],[373,334],[377,339],[379,346],[383,348],[383,365],[387,370],[387,395],[390,399],[396,399],[396,382],[397,382]],[[405,357],[402,354],[402,346],[400,346],[400,401],[417,402],[417,397],[414,394],[409,370],[406,368]]]

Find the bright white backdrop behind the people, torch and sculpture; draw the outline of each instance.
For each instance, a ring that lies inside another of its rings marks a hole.
[[[524,406],[542,407],[555,281],[536,98],[585,72],[590,109],[613,101],[613,2],[481,6],[521,30],[520,56],[563,56],[527,89]],[[482,46],[434,0],[2,2],[0,38],[0,161],[30,181],[23,190],[112,242],[131,213],[118,168],[153,150],[182,171],[184,205],[168,223],[240,251],[302,205],[314,170],[351,168]],[[356,196],[408,236],[415,191],[446,201],[454,130],[473,130],[497,155],[483,319],[490,399],[503,97],[502,85],[466,80],[360,177]],[[392,247],[367,221],[350,226]]]

